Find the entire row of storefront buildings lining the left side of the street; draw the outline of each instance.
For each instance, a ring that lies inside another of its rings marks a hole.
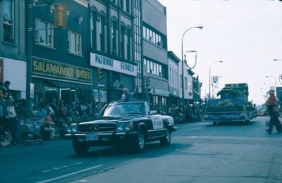
[[[58,27],[54,13],[64,2],[67,23]],[[182,62],[167,51],[166,7],[157,0],[2,0],[0,10],[0,82],[11,82],[15,99],[26,98],[28,86],[35,104],[106,103],[137,84],[137,99],[161,111],[181,104],[182,87],[185,102],[193,100],[194,72],[184,69],[182,86]]]

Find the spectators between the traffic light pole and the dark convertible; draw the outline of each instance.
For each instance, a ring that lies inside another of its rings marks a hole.
[[[63,137],[68,125],[94,118],[100,106],[96,102],[84,101],[65,102],[53,99],[51,102],[39,100],[38,105],[32,108],[32,120],[40,120],[42,124],[42,137],[46,140]]]

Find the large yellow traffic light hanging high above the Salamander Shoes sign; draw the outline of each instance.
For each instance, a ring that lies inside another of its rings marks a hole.
[[[62,29],[66,28],[66,23],[68,21],[67,13],[67,3],[63,2],[59,5],[55,5],[54,11],[54,25],[55,27],[61,27]]]

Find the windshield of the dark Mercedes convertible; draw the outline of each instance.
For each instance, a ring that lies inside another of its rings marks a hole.
[[[104,116],[133,114],[145,115],[145,103],[111,103],[104,112]]]

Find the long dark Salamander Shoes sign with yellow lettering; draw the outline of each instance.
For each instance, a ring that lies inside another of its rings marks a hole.
[[[75,65],[45,61],[38,58],[32,60],[32,74],[59,77],[61,79],[92,82],[92,70]]]

